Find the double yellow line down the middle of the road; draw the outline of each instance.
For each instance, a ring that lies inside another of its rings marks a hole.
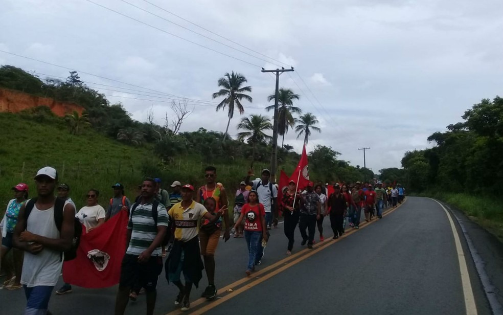
[[[405,202],[405,200],[404,200],[404,202]],[[403,202],[402,202],[402,204],[398,205],[397,207],[383,212],[382,216],[386,216],[386,215],[392,213],[393,211],[397,210],[401,205],[403,205]],[[374,220],[372,220],[370,222],[363,222],[360,224],[359,229],[361,230],[365,227],[368,227],[370,224],[372,224],[376,221],[377,221],[377,218],[375,218]],[[346,238],[353,233],[356,233],[356,231],[358,231],[358,229],[353,228],[351,231],[346,232],[344,235],[342,235],[341,237],[339,237],[337,239],[330,239],[330,240],[327,240],[324,242],[316,243],[313,245],[313,249],[304,249],[304,250],[302,250],[296,254],[293,254],[291,256],[288,256],[288,257],[286,257],[286,258],[284,258],[284,259],[282,259],[282,260],[280,260],[280,261],[278,261],[278,262],[276,262],[276,263],[274,263],[264,269],[261,269],[260,271],[254,273],[250,277],[245,277],[245,278],[242,278],[236,282],[233,282],[233,283],[231,283],[231,284],[229,284],[219,290],[220,294],[221,295],[223,294],[223,297],[221,297],[217,300],[209,301],[206,298],[200,298],[194,302],[191,302],[191,304],[190,304],[191,310],[192,310],[192,308],[195,308],[204,302],[207,302],[208,305],[204,305],[198,309],[195,309],[194,311],[192,311],[190,313],[191,314],[202,314],[204,312],[207,312],[210,309],[222,304],[223,302],[236,297],[237,295],[241,294],[242,292],[278,275],[279,273],[285,271],[286,269],[290,268],[291,266],[303,261],[304,259],[307,259],[307,258],[315,255],[316,253],[319,252],[319,251],[316,251],[317,249],[319,249],[319,250],[326,249],[328,246],[335,244],[336,242],[340,241],[341,239]],[[271,272],[269,272],[269,271],[271,271]],[[249,282],[249,283],[247,283],[246,285],[242,285],[242,284],[245,284],[246,282]],[[235,289],[236,287],[238,287],[238,288]],[[176,314],[182,314],[182,313],[184,313],[184,312],[182,312],[180,309],[177,309],[177,310],[174,310],[174,311],[167,313],[166,315],[176,315]]]

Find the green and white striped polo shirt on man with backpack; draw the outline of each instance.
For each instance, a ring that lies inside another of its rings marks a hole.
[[[168,227],[168,212],[162,204],[157,206],[157,226]],[[157,236],[157,226],[152,216],[152,204],[138,204],[127,222],[127,228],[132,231],[126,254],[140,255],[148,249]],[[152,256],[161,255],[161,246],[152,252]]]

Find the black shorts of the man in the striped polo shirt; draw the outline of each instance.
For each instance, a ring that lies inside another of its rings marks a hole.
[[[155,291],[157,279],[163,271],[163,258],[151,256],[146,263],[139,263],[138,256],[126,254],[121,264],[121,287],[144,287],[146,291]]]

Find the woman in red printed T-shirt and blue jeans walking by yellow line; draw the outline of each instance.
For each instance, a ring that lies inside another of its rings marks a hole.
[[[265,209],[264,205],[259,204],[259,196],[257,192],[252,190],[248,195],[248,202],[241,208],[241,214],[234,224],[234,229],[239,226],[241,220],[244,218],[244,237],[248,246],[248,264],[246,268],[246,275],[251,275],[255,271],[255,261],[257,260],[257,253],[262,239],[267,241],[267,229],[265,228]]]

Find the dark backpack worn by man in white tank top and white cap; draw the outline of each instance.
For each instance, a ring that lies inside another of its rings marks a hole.
[[[56,223],[56,228],[61,232],[61,226],[63,225],[63,210],[64,203],[66,200],[61,198],[56,198],[54,202],[54,222]],[[30,199],[25,206],[25,222],[28,224],[28,217],[30,216],[31,211],[33,210],[33,206],[35,206],[35,202],[37,202],[37,198]],[[82,236],[82,224],[79,219],[74,217],[74,236],[72,241],[72,247],[69,250],[61,252],[61,260],[68,261],[73,260],[77,257],[77,249],[80,244],[80,237]],[[64,253],[64,256],[63,256]],[[63,259],[64,257],[64,259]]]

